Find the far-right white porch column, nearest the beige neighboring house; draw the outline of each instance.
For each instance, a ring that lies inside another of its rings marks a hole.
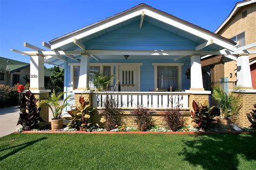
[[[245,87],[243,89],[253,89],[249,56],[247,53],[242,53],[237,58],[237,85]]]

